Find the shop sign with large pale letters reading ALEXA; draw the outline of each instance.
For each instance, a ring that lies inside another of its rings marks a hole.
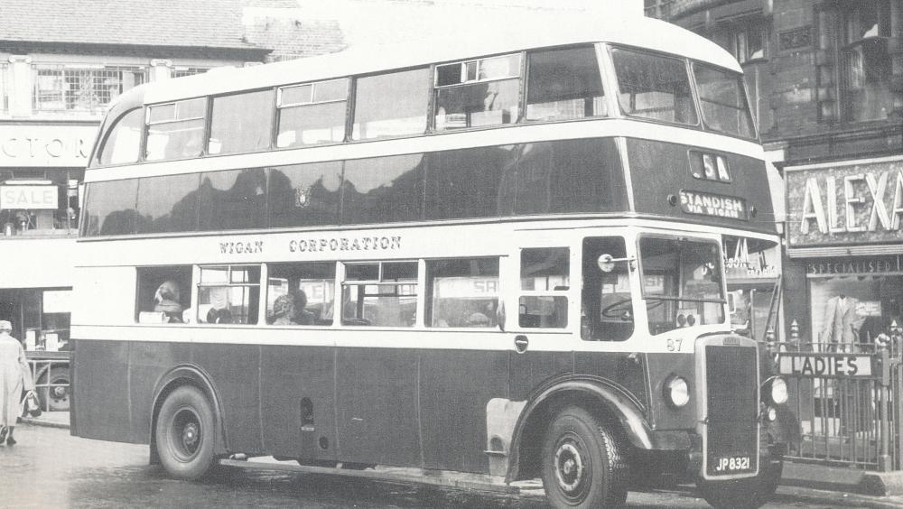
[[[790,244],[899,240],[903,159],[787,171]]]

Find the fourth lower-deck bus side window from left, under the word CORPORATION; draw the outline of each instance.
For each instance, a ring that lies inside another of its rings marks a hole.
[[[413,327],[417,273],[417,262],[345,264],[342,325]]]

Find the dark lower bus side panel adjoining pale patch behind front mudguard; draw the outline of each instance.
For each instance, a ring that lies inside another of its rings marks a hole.
[[[508,398],[506,351],[422,350],[424,467],[489,473],[486,406]]]

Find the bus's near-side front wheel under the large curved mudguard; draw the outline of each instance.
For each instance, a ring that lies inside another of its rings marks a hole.
[[[627,501],[628,467],[619,441],[581,407],[558,413],[542,454],[543,487],[554,507],[610,509]]]

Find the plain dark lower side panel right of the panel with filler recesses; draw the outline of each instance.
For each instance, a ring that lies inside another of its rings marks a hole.
[[[336,398],[341,461],[421,464],[416,350],[340,347]]]

